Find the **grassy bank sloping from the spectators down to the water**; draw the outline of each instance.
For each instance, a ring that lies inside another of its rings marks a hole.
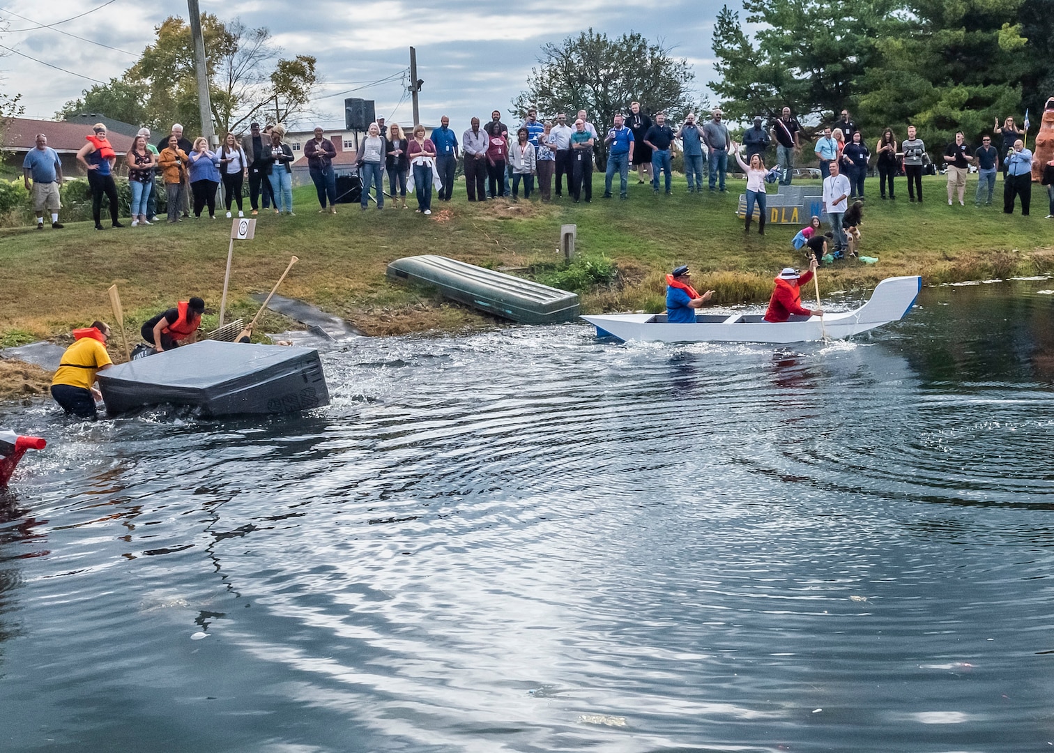
[[[602,283],[596,287],[589,287],[589,275],[568,282],[588,288],[586,311],[661,308],[664,275],[680,264],[692,268],[697,288],[716,289],[720,304],[760,302],[780,268],[804,264],[789,244],[798,225],[769,225],[764,237],[743,234],[735,216],[741,180],[730,180],[726,194],[691,195],[678,177],[672,196],[630,182],[626,201],[600,198],[601,175],[594,176],[591,204],[565,198],[544,205],[535,195],[514,205],[503,199],[473,205],[458,181],[454,200],[435,201],[431,217],[412,210],[378,212],[372,205],[366,212],[343,205],[337,215],[321,215],[313,187],[301,187],[294,192],[295,217],[262,213],[256,238],[235,244],[229,317],[250,318],[256,305],[249,294],[270,290],[295,254],[300,260],[281,294],[345,316],[367,332],[479,326],[488,320],[442,304],[432,292],[390,283],[387,264],[434,253],[486,267],[553,273],[562,260],[560,226],[568,223],[578,225],[582,257],[609,259],[618,270],[614,282],[603,274],[593,277]],[[970,198],[974,187],[968,185]],[[909,204],[905,188],[898,180],[900,198],[881,201],[877,181],[868,179],[861,252],[879,262],[824,268],[823,290],[863,289],[897,274],[952,282],[1054,270],[1054,220],[1042,218],[1047,196],[1039,187],[1033,191],[1031,217],[1008,216],[996,206],[975,209],[970,201],[965,208],[949,207],[941,177],[924,180],[923,205]],[[0,336],[54,336],[93,318],[112,321],[106,289],[114,283],[130,332],[190,295],[201,295],[218,310],[230,228],[230,220],[203,218],[104,232],[91,223],[65,230],[0,231],[5,279]],[[284,324],[272,320],[273,327]]]

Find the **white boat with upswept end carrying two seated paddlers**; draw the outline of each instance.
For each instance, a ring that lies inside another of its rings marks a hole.
[[[765,322],[762,314],[696,314],[695,324],[670,324],[666,314],[598,314],[583,316],[597,327],[600,337],[660,343],[802,343],[811,340],[852,337],[868,329],[903,318],[915,305],[922,278],[886,277],[871,300],[858,309],[819,316],[790,316],[787,322]]]

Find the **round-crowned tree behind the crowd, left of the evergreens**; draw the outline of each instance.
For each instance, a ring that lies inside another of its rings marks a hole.
[[[630,32],[617,39],[590,28],[560,44],[542,45],[538,67],[527,78],[527,89],[512,100],[510,111],[520,122],[527,109],[551,116],[579,110],[589,113],[598,132],[611,124],[617,113],[639,101],[647,113],[660,110],[680,120],[696,107],[691,84],[696,76],[685,58],[675,58],[662,42],[649,42]],[[600,143],[599,163],[604,168],[607,148]]]

